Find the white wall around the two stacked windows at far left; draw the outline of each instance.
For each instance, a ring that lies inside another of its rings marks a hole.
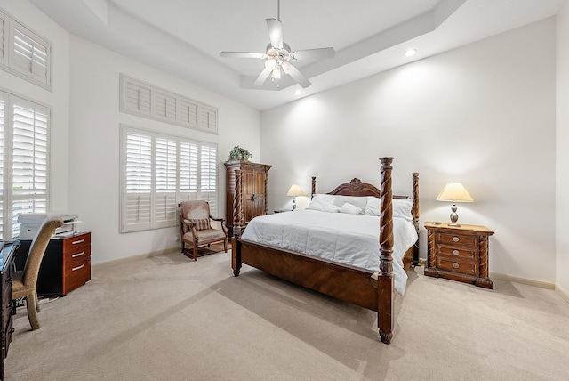
[[[50,206],[68,208],[69,36],[65,29],[27,1],[0,0],[0,8],[52,43],[52,91],[0,70],[0,88],[52,109]]]

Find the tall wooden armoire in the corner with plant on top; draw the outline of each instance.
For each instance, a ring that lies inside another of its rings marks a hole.
[[[227,203],[226,224],[229,237],[233,236],[233,199],[235,198],[235,171],[241,170],[243,186],[244,226],[257,215],[267,214],[267,182],[268,164],[252,163],[250,161],[227,161]],[[244,227],[243,226],[243,227]]]

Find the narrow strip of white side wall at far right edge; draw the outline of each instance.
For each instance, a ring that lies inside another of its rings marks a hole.
[[[557,285],[569,300],[569,4],[557,14]]]

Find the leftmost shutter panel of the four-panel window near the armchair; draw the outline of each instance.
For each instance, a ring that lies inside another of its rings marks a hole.
[[[123,230],[150,229],[152,139],[140,134],[126,134],[125,146]]]

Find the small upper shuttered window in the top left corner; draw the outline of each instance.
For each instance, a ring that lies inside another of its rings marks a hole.
[[[52,44],[0,10],[0,68],[52,89]]]

